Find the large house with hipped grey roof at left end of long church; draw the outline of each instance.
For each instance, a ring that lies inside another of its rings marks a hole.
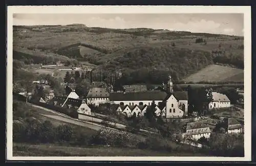
[[[87,94],[87,103],[98,106],[109,102],[110,93],[104,88],[91,88]]]

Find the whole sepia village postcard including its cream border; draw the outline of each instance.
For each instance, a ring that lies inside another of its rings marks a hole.
[[[249,6],[7,14],[8,160],[251,160]]]

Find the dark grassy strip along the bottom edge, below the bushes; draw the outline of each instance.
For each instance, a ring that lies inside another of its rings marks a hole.
[[[207,156],[193,153],[167,153],[114,147],[69,147],[53,144],[13,144],[13,156]]]

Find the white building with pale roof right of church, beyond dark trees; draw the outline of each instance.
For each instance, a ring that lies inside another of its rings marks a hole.
[[[224,94],[212,92],[214,101],[209,103],[209,109],[230,107],[230,100]]]

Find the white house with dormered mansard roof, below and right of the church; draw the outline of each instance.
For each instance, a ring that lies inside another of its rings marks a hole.
[[[203,122],[190,122],[187,123],[183,137],[190,137],[194,140],[199,140],[201,137],[208,139],[210,137],[211,130]]]

